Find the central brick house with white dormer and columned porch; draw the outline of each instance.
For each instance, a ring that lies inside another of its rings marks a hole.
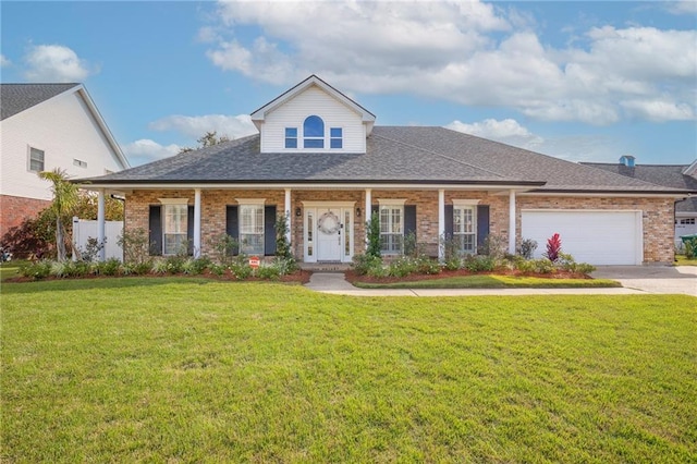
[[[125,196],[125,227],[149,231],[154,254],[191,244],[210,254],[229,234],[248,255],[276,253],[290,218],[304,262],[348,262],[380,220],[382,253],[413,232],[433,256],[453,237],[476,253],[493,234],[514,252],[559,232],[578,260],[673,260],[675,199],[658,186],[443,127],[377,126],[376,117],[313,75],[252,113],[259,134],[102,178],[84,188]]]

